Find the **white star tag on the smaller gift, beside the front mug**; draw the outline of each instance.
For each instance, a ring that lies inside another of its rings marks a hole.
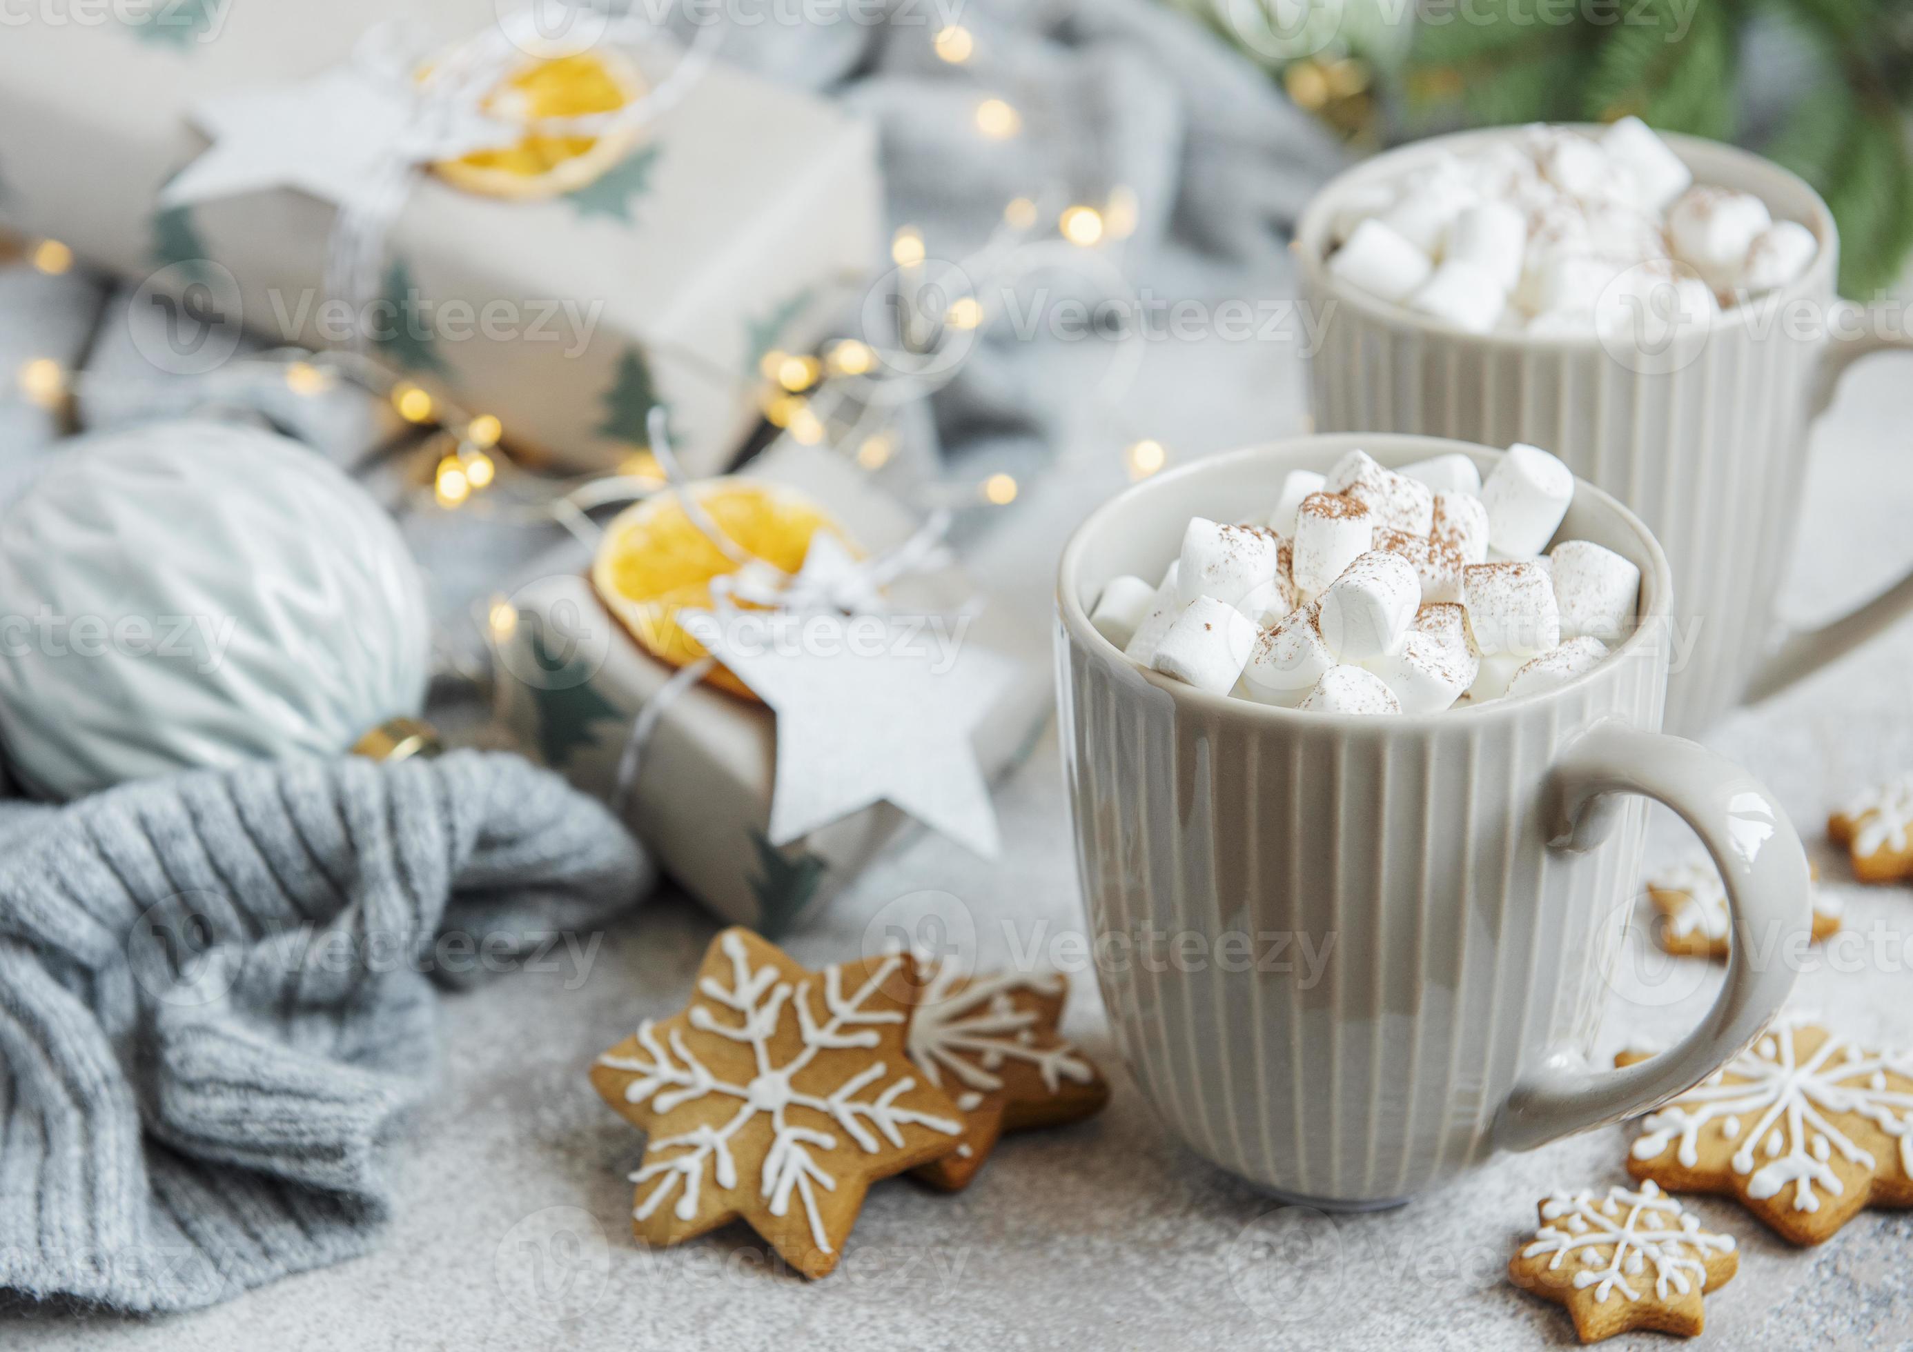
[[[890,801],[995,859],[974,729],[1014,667],[962,620],[685,610],[679,623],[777,713],[773,845]]]

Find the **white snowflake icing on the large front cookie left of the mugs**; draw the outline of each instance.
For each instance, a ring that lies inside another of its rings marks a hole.
[[[675,1214],[679,1220],[691,1220],[698,1212],[698,1189],[706,1170],[719,1188],[737,1188],[737,1157],[731,1153],[731,1140],[761,1113],[771,1119],[773,1126],[771,1149],[763,1157],[761,1195],[769,1201],[773,1216],[788,1214],[790,1199],[796,1195],[809,1220],[811,1239],[819,1251],[830,1253],[823,1218],[817,1212],[815,1189],[836,1191],[836,1178],[817,1163],[809,1147],[832,1151],[838,1147],[838,1138],[828,1130],[792,1123],[788,1119],[792,1107],[803,1107],[830,1119],[869,1153],[880,1149],[876,1134],[882,1134],[891,1145],[903,1145],[903,1134],[897,1128],[905,1124],[928,1126],[945,1136],[956,1136],[962,1132],[962,1124],[947,1117],[897,1107],[897,1098],[916,1086],[916,1079],[909,1075],[886,1082],[874,1100],[857,1100],[857,1092],[884,1079],[882,1061],[872,1061],[846,1077],[828,1098],[798,1092],[792,1084],[798,1071],[807,1067],[819,1052],[878,1046],[880,1038],[870,1031],[870,1025],[903,1023],[903,1014],[863,1008],[895,973],[901,958],[884,960],[847,1000],[844,998],[844,970],[825,968],[825,1010],[828,1010],[830,1021],[819,1025],[811,1014],[809,981],[800,981],[792,989],[788,981],[777,979],[777,968],[769,964],[752,971],[750,954],[737,935],[727,933],[721,943],[725,956],[731,958],[733,983],[725,987],[710,977],[698,983],[698,994],[710,1004],[691,1006],[691,1027],[733,1042],[748,1042],[758,1061],[758,1075],[748,1084],[731,1084],[714,1077],[693,1056],[677,1029],[671,1029],[670,1050],[666,1050],[652,1019],[645,1019],[637,1029],[637,1042],[650,1059],[599,1058],[599,1065],[643,1077],[631,1080],[624,1096],[631,1103],[652,1100],[650,1107],[656,1113],[670,1113],[712,1094],[738,1100],[737,1113],[723,1126],[700,1124],[681,1136],[660,1136],[650,1142],[647,1153],[666,1149],[683,1149],[685,1153],[658,1159],[631,1174],[631,1182],[639,1186],[660,1180],[633,1214],[647,1220],[677,1188]],[[784,1065],[773,1065],[769,1042],[786,1006],[796,1010],[803,1050]],[[725,1012],[725,1017],[714,1014],[714,1008]],[[737,1021],[731,1023],[729,1015],[737,1015]]]

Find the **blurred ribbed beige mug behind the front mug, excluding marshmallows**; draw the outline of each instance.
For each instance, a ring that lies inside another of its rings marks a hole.
[[[1804,273],[1699,331],[1668,338],[1624,329],[1607,340],[1469,333],[1331,272],[1337,222],[1377,187],[1527,134],[1490,128],[1404,145],[1351,168],[1310,203],[1295,252],[1305,304],[1320,316],[1308,354],[1314,430],[1528,442],[1638,511],[1674,570],[1678,662],[1666,723],[1695,732],[1913,610],[1907,578],[1773,648],[1770,608],[1794,535],[1808,419],[1827,407],[1852,361],[1913,350],[1913,340],[1903,321],[1835,294],[1838,235],[1812,187],[1756,155],[1689,136],[1664,140],[1697,184],[1752,193],[1775,220],[1800,222],[1819,241]]]

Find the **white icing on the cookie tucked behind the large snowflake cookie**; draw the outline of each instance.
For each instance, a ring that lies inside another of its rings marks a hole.
[[[1073,1080],[1088,1084],[1096,1071],[1085,1061],[1075,1046],[1058,1038],[1052,1048],[1033,1046],[1035,1010],[1020,1010],[1010,996],[1018,991],[1033,994],[1058,994],[1064,987],[1054,975],[1004,971],[993,977],[978,977],[968,987],[956,989],[962,973],[949,962],[930,968],[922,998],[911,1015],[911,1059],[932,1084],[943,1084],[949,1071],[960,1084],[968,1086],[956,1105],[970,1111],[983,1101],[983,1094],[1002,1088],[997,1075],[1006,1059],[1029,1061],[1043,1075],[1043,1084],[1050,1094],[1062,1082]]]

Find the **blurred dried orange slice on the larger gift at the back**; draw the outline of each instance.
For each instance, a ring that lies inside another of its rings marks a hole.
[[[587,117],[633,103],[645,88],[637,67],[616,52],[532,61],[486,99],[486,111],[511,119]],[[595,182],[637,143],[637,128],[605,136],[526,136],[517,145],[473,151],[432,168],[448,184],[486,197],[557,197]]]

